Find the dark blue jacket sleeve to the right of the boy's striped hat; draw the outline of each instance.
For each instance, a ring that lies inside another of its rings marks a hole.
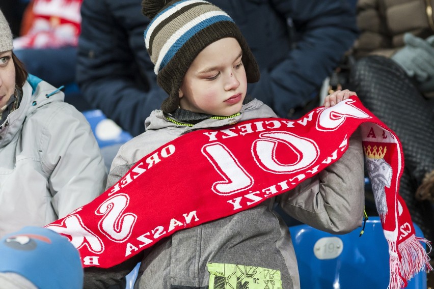
[[[261,68],[261,79],[250,93],[259,99],[272,98],[266,103],[287,118],[291,108],[304,106],[317,95],[323,80],[354,44],[356,15],[347,0],[271,2],[295,31],[293,49],[277,65]]]

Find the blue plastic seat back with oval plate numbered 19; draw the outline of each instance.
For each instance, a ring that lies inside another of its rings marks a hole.
[[[420,228],[414,226],[416,236],[423,237]],[[325,233],[305,224],[291,226],[289,230],[302,289],[387,289],[389,252],[379,217],[369,217],[361,237],[361,228],[345,235]],[[406,288],[426,287],[426,272],[420,272]]]

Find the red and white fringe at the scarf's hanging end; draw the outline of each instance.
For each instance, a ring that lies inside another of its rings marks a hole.
[[[429,264],[429,256],[425,250],[424,243],[431,251],[431,243],[420,237],[412,236],[398,245],[398,254],[390,257],[390,280],[389,289],[405,288],[407,280],[414,277],[415,274],[422,270],[432,271]],[[396,245],[389,243],[389,248],[394,249]]]

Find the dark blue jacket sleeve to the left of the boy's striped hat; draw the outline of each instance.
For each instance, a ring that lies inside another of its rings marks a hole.
[[[84,98],[131,135],[167,94],[159,88],[146,51],[148,19],[137,0],[85,0],[76,80]]]

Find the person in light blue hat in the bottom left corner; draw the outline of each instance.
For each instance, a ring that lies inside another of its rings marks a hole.
[[[27,226],[0,239],[0,289],[82,289],[77,249],[50,229]]]

